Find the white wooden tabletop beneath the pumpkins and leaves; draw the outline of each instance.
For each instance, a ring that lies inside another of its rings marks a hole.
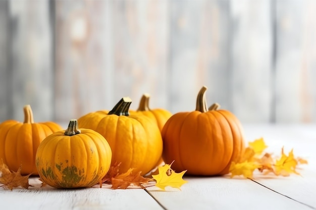
[[[316,209],[316,125],[244,125],[246,141],[264,137],[267,152],[280,154],[294,148],[294,155],[308,160],[299,175],[254,175],[254,180],[227,177],[184,177],[178,189],[155,187],[55,189],[40,187],[0,188],[0,209]]]

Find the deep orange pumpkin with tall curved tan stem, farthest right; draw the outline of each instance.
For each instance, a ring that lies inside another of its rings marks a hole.
[[[240,121],[219,104],[207,109],[206,87],[197,95],[196,109],[174,114],[163,131],[163,159],[175,171],[191,175],[223,175],[231,162],[238,162],[244,151]]]

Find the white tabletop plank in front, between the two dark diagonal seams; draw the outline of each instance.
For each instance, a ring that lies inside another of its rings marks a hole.
[[[310,209],[249,179],[186,177],[180,190],[150,191],[167,209]]]

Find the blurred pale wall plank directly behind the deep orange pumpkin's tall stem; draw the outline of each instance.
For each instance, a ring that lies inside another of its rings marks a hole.
[[[170,7],[170,110],[193,111],[202,86],[209,105],[231,109],[229,2],[171,1]]]

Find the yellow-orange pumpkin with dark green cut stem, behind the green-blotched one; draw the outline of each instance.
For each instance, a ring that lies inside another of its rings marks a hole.
[[[112,149],[112,164],[120,171],[133,168],[141,175],[153,169],[162,156],[163,141],[157,124],[145,115],[131,112],[129,97],[122,98],[108,111],[88,113],[78,119],[80,127],[99,132]],[[108,113],[107,113],[108,112]]]

